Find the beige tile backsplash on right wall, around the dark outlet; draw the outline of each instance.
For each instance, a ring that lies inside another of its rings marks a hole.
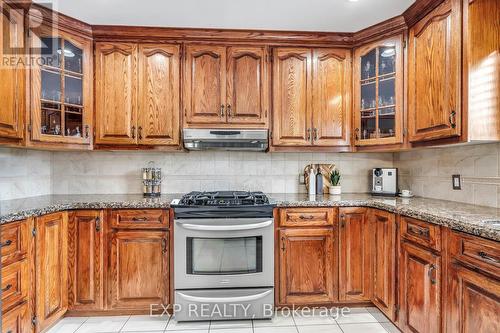
[[[500,143],[394,154],[401,188],[415,195],[500,208]],[[451,176],[462,176],[453,190]]]

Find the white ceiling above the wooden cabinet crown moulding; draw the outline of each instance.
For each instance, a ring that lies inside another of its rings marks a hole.
[[[36,0],[90,24],[355,32],[414,0]]]

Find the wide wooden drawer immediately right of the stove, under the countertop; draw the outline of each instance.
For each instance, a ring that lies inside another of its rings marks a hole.
[[[333,226],[336,208],[286,208],[280,210],[281,227]]]

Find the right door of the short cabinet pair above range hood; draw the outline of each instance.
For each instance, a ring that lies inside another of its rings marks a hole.
[[[227,51],[227,122],[266,125],[269,109],[265,47],[229,47]]]

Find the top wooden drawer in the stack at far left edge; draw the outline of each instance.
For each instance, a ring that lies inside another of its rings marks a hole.
[[[2,265],[22,260],[28,252],[28,222],[19,221],[2,225],[0,247]]]

